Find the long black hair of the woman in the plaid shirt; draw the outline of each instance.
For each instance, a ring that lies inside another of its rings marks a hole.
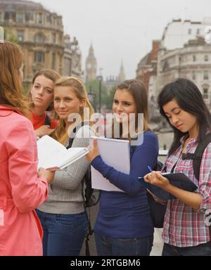
[[[188,132],[183,133],[173,127],[169,118],[165,115],[162,107],[172,100],[177,101],[182,110],[196,117],[199,127],[197,141],[202,141],[207,130],[211,130],[211,115],[196,84],[193,84],[189,79],[180,78],[165,85],[158,96],[158,106],[160,107],[160,114],[165,117],[174,130],[174,141],[170,147],[169,155],[174,153],[180,146],[181,136],[188,134]]]

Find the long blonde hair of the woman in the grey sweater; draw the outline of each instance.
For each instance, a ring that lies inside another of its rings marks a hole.
[[[86,121],[84,117],[84,108],[89,108],[90,115],[94,113],[94,109],[89,102],[88,94],[84,82],[82,79],[77,77],[60,77],[56,81],[55,87],[57,86],[69,86],[75,91],[75,95],[79,99],[79,101],[84,100],[84,107],[79,111],[79,115],[82,117],[82,122]],[[60,143],[65,144],[68,141],[68,132],[66,130],[66,124],[64,120],[59,119],[58,127],[53,134],[54,139],[59,141]]]

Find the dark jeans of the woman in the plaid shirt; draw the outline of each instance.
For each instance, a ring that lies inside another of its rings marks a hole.
[[[196,247],[178,248],[164,243],[162,256],[210,256],[211,243],[196,245]]]

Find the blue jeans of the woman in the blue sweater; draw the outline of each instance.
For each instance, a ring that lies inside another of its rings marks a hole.
[[[98,256],[149,256],[153,236],[117,239],[94,233]]]

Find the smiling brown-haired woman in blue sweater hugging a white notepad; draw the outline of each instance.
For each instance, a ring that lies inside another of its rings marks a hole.
[[[117,139],[128,139],[131,144],[136,139],[136,147],[130,147],[129,174],[103,162],[96,141],[87,154],[91,165],[123,191],[101,191],[94,226],[96,248],[100,256],[148,256],[153,245],[153,223],[146,188],[138,178],[148,172],[148,166],[157,164],[158,139],[148,127],[148,97],[141,81],[131,79],[117,86],[113,113],[120,124]],[[139,126],[141,116],[143,124]]]

